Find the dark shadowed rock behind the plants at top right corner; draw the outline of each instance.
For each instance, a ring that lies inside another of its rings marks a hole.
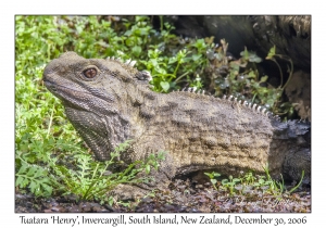
[[[229,51],[239,55],[244,46],[262,56],[275,45],[300,68],[311,68],[310,15],[254,15],[254,16],[165,16],[173,22],[177,35],[187,37],[215,37],[215,43],[225,38]]]

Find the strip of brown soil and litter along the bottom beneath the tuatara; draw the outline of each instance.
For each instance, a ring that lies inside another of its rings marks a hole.
[[[291,186],[288,186],[290,189]],[[281,195],[267,193],[262,188],[239,190],[216,190],[211,182],[175,179],[165,191],[112,206],[96,201],[77,201],[76,195],[35,198],[29,193],[16,192],[16,213],[273,213],[311,212],[310,186],[301,187],[294,193]]]

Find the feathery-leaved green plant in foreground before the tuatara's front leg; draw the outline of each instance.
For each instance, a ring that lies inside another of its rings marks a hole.
[[[150,169],[158,169],[159,163],[164,160],[164,152],[151,154],[145,162],[137,161],[123,172],[105,175],[108,168],[115,164],[116,157],[128,147],[128,142],[120,144],[106,162],[95,162],[90,154],[77,153],[71,160],[72,164],[60,164],[58,157],[49,157],[48,167],[43,168],[28,165],[18,157],[24,165],[16,173],[16,187],[28,187],[37,197],[50,197],[55,188],[62,194],[77,195],[78,200],[98,200],[112,204],[113,198],[108,192],[120,183],[149,181],[152,177],[137,177],[137,174],[143,172],[149,175]]]

